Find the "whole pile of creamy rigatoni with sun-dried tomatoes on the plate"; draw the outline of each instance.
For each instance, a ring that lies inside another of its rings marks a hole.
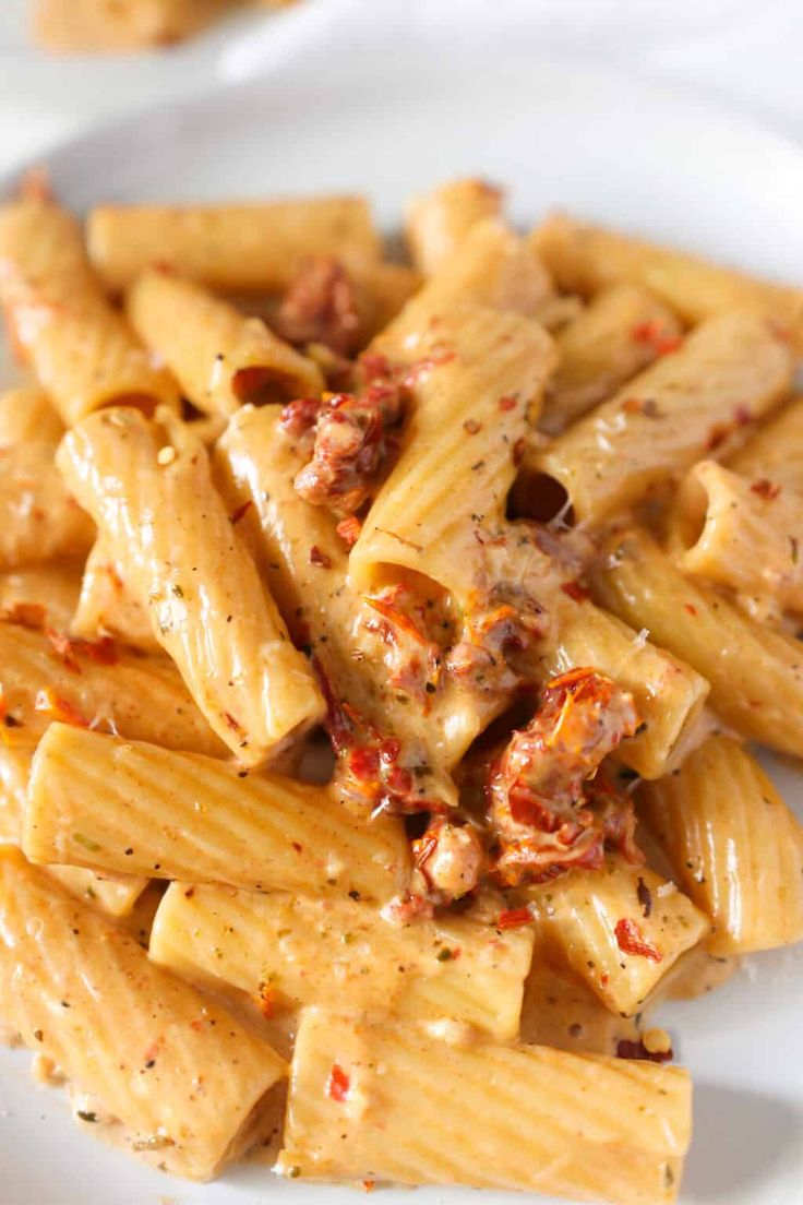
[[[502,205],[0,208],[0,1021],[173,1174],[674,1200],[803,939],[803,294]]]

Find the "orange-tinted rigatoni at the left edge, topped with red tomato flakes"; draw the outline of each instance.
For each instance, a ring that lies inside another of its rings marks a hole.
[[[7,739],[34,743],[59,718],[167,748],[225,753],[170,662],[123,649],[101,649],[101,660],[98,656],[81,646],[57,646],[20,624],[0,623],[1,698],[13,722]]]

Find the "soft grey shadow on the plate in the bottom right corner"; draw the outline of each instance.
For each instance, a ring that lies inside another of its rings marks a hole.
[[[731,1205],[769,1185],[785,1157],[799,1148],[803,1105],[758,1092],[695,1084],[695,1139],[684,1189],[695,1203]],[[749,1200],[761,1200],[750,1195]]]

